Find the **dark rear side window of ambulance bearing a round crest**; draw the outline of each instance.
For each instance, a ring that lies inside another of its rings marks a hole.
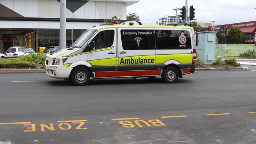
[[[189,31],[156,30],[156,48],[191,49],[191,38]]]

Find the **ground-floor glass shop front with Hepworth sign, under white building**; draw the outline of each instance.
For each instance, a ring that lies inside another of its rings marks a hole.
[[[67,46],[85,30],[67,29]],[[38,52],[39,47],[59,46],[59,29],[0,29],[0,53],[13,46],[24,46]]]

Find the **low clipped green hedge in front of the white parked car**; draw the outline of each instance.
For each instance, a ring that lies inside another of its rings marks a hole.
[[[0,68],[34,68],[36,63],[17,58],[0,59]]]

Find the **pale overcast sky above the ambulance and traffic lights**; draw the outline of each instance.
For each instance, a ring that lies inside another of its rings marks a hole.
[[[215,24],[231,24],[256,20],[256,0],[188,0],[188,7],[191,5],[198,22],[215,20]],[[127,7],[127,15],[131,12],[142,21],[158,21],[164,15],[175,15],[173,8],[182,6],[185,0],[140,0]]]

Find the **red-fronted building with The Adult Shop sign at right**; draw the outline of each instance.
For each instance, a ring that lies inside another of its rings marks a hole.
[[[234,26],[237,26],[241,29],[242,33],[247,37],[246,42],[247,43],[255,43],[255,37],[256,37],[256,21],[250,21],[250,22],[239,22],[234,24],[223,24],[223,25],[217,25],[208,27],[209,31],[219,31],[221,28],[225,26],[226,31],[228,33],[228,30]]]

